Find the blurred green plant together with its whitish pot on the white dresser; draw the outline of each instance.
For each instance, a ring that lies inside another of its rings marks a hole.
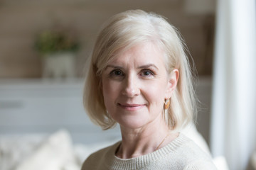
[[[75,77],[75,55],[79,44],[63,30],[46,30],[36,36],[35,48],[43,58],[43,77]]]

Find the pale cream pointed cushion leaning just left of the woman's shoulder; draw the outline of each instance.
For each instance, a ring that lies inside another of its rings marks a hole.
[[[60,130],[50,135],[35,152],[16,166],[16,170],[28,169],[79,170],[68,132]]]

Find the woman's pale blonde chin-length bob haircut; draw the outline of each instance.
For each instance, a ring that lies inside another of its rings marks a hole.
[[[196,96],[193,90],[191,67],[186,55],[186,45],[174,26],[164,17],[142,10],[118,13],[100,30],[92,55],[87,62],[87,75],[83,94],[85,111],[93,123],[103,130],[116,124],[107,113],[102,95],[102,71],[107,64],[134,45],[152,42],[164,50],[166,71],[178,69],[179,79],[171,104],[163,113],[170,130],[180,130],[193,121],[196,115]],[[163,103],[164,106],[164,103]]]

